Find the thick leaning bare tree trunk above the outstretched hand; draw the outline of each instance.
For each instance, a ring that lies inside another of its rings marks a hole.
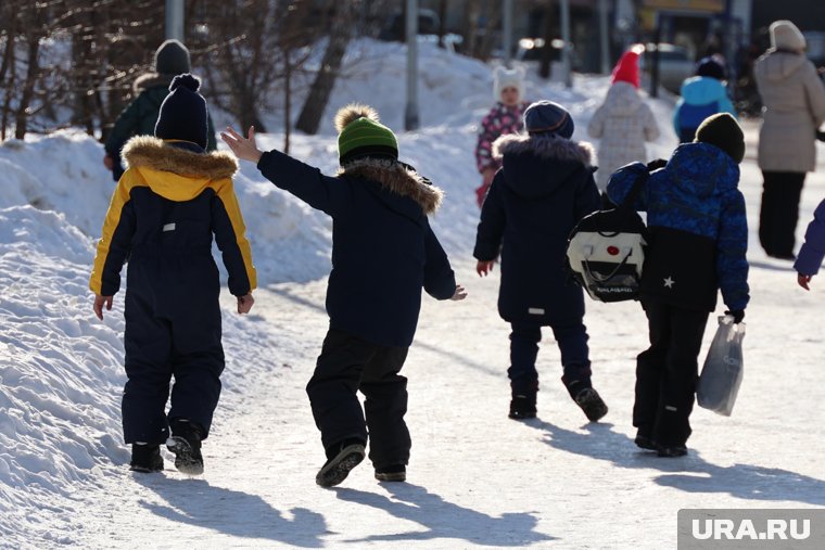
[[[315,75],[315,81],[313,81],[304,107],[301,110],[301,115],[295,124],[296,130],[310,136],[318,132],[323,111],[327,108],[330,94],[335,86],[335,79],[341,71],[346,46],[350,43],[350,13],[348,2],[341,2],[335,9],[332,20],[332,34],[323,52],[321,66]]]

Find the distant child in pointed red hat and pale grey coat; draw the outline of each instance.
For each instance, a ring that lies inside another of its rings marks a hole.
[[[605,102],[587,125],[587,133],[600,140],[596,184],[602,193],[613,171],[632,162],[646,163],[645,142],[659,138],[653,112],[638,92],[638,47],[622,54]]]

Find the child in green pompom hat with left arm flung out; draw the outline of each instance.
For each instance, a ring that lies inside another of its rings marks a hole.
[[[364,459],[368,432],[376,478],[405,481],[411,444],[404,422],[407,380],[398,371],[418,323],[421,289],[437,299],[466,296],[428,219],[442,191],[398,162],[395,136],[371,107],[342,108],[335,126],[337,177],[279,151],[262,153],[254,128],[248,139],[231,128],[221,133],[276,186],[332,217],[330,327],[306,387],[327,453],[316,476],[322,487],[343,482]]]

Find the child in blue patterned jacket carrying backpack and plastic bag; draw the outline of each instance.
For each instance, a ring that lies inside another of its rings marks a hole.
[[[702,121],[693,143],[670,161],[630,164],[610,178],[620,204],[639,177],[655,169],[636,201],[647,212],[649,246],[640,302],[650,347],[636,362],[635,443],[660,457],[681,457],[690,436],[699,349],[716,291],[734,322],[748,305],[748,223],[737,189],[745,156],[741,128],[727,113]]]

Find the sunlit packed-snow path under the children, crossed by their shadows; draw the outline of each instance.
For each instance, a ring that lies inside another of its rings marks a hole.
[[[314,485],[322,453],[303,387],[326,330],[325,284],[283,284],[258,293],[251,320],[278,334],[277,348],[250,344],[271,374],[251,369],[254,395],[224,394],[203,478],[168,470],[132,477],[119,466],[87,495],[91,508],[73,543],[674,548],[682,508],[825,506],[813,308],[822,294],[795,292],[787,265],[754,263],[734,415],[697,410],[690,456],[664,460],[632,443],[633,358],[645,345],[636,306],[588,303],[595,382],[611,407],[605,422],[587,424],[569,400],[545,340],[540,418],[517,423],[506,417],[508,331],[494,310],[497,277],[479,280],[469,258],[457,264],[470,298],[426,299],[407,361],[409,483],[378,484],[365,462],[339,488]],[[795,359],[783,361],[789,349]]]

